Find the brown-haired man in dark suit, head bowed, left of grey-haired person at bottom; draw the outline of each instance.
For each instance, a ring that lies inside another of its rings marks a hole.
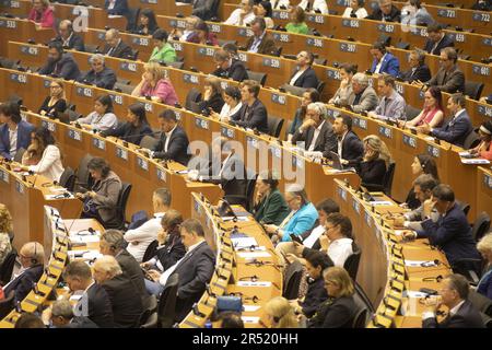
[[[75,316],[89,317],[101,328],[113,328],[113,307],[106,290],[95,283],[91,267],[82,260],[70,262],[63,271],[63,279],[70,292],[82,296],[73,306]],[[81,293],[82,292],[82,293]]]

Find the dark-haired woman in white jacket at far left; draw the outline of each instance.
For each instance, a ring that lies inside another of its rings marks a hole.
[[[32,152],[35,150],[35,152]],[[35,153],[36,158],[32,158]],[[35,162],[35,160],[38,160]],[[55,145],[55,138],[45,127],[39,127],[32,133],[28,151],[22,156],[22,168],[43,175],[52,182],[58,182],[63,174],[63,164],[61,164],[61,153]]]

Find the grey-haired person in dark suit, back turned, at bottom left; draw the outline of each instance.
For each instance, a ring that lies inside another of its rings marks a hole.
[[[140,326],[143,313],[142,300],[131,279],[122,272],[113,256],[98,258],[93,266],[94,280],[104,288],[112,302],[113,316],[117,328]]]

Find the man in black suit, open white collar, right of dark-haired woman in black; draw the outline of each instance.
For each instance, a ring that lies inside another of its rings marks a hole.
[[[153,150],[140,149],[139,152],[187,165],[190,158],[189,141],[185,129],[178,126],[176,113],[173,109],[165,109],[159,115],[157,121],[162,130],[157,145]]]

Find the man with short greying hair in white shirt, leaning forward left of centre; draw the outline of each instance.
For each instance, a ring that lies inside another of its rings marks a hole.
[[[157,240],[161,230],[161,220],[171,209],[171,191],[165,188],[157,188],[152,195],[152,208],[154,215],[142,225],[128,230],[125,233],[125,241],[129,243],[127,250],[138,262],[142,262],[149,244]]]

